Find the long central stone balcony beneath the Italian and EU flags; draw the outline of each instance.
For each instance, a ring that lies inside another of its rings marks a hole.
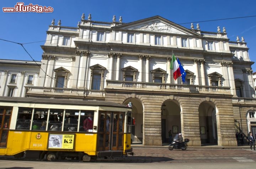
[[[128,82],[128,81],[113,81],[107,80],[106,90],[116,91],[142,91],[142,92],[174,92],[182,94],[213,94],[213,95],[230,95],[230,87],[219,86],[199,86],[185,84],[170,84],[170,83],[146,83],[146,82]]]

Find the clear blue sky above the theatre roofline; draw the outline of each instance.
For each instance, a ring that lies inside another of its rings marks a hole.
[[[52,7],[53,12],[3,12],[3,7],[15,7],[18,2]],[[61,20],[62,26],[77,27],[85,13],[85,19],[91,14],[92,21],[102,22],[112,22],[113,15],[117,21],[122,16],[123,23],[159,15],[188,29],[191,23],[195,28],[199,23],[201,31],[217,32],[218,26],[221,31],[225,27],[230,41],[244,37],[250,60],[256,62],[255,0],[2,0],[0,6],[0,59],[41,61],[41,45],[52,19],[55,25]],[[256,63],[252,70],[256,72]]]

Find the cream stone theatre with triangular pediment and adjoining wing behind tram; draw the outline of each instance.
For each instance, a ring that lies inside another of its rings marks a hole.
[[[53,19],[42,49],[32,84],[24,85],[32,75],[22,75],[25,68],[1,68],[2,95],[20,96],[23,82],[22,97],[131,102],[132,139],[143,145],[168,142],[169,130],[189,138],[189,146],[237,146],[236,132],[256,132],[254,62],[245,38],[230,41],[225,27],[209,32],[160,16],[123,23],[82,14],[75,27]],[[184,82],[174,80],[173,54],[186,71]]]

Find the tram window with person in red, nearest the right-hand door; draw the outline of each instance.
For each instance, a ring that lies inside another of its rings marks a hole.
[[[92,132],[94,121],[93,110],[81,110],[79,132]]]

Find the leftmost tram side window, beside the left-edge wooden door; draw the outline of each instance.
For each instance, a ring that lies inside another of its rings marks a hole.
[[[29,130],[33,108],[18,107],[16,129]]]

